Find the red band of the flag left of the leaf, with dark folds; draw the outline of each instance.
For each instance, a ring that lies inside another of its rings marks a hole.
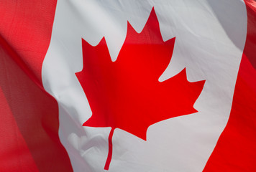
[[[73,171],[42,88],[56,0],[0,1],[0,171]]]

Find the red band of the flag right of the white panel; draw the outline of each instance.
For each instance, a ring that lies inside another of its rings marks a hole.
[[[226,128],[204,171],[256,171],[256,2],[247,6],[247,39]]]

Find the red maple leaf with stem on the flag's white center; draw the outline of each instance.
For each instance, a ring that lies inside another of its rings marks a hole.
[[[116,128],[147,139],[147,128],[161,120],[196,113],[194,102],[204,81],[188,82],[186,70],[159,82],[173,54],[175,38],[164,42],[154,8],[141,33],[128,22],[127,37],[116,62],[111,61],[105,39],[91,46],[82,39],[83,70],[76,73],[88,98],[92,116],[83,126]]]

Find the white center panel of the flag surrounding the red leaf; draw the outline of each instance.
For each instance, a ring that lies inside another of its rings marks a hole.
[[[74,171],[104,171],[110,131],[82,126],[92,113],[75,75],[83,68],[81,38],[96,45],[105,37],[115,61],[127,20],[140,32],[152,6],[163,39],[176,37],[173,57],[160,81],[186,67],[190,82],[206,83],[194,105],[198,113],[151,125],[147,141],[116,129],[109,171],[202,171],[227,125],[247,34],[243,1],[61,0],[42,82],[58,101],[60,141]]]

